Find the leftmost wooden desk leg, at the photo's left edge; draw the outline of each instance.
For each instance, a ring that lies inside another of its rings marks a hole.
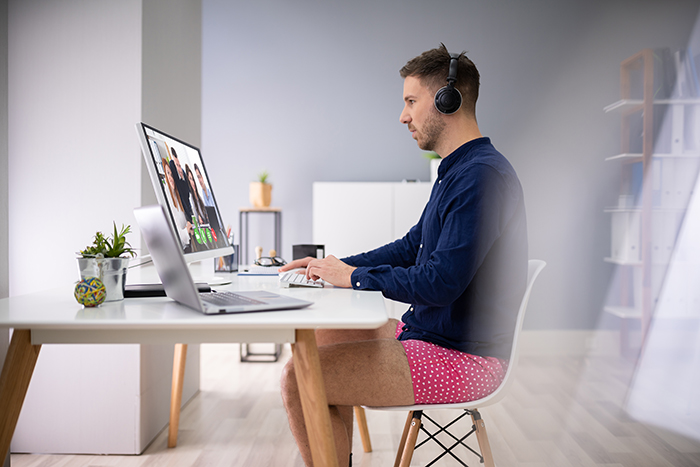
[[[10,452],[24,397],[39,357],[40,345],[32,345],[31,331],[15,329],[0,374],[0,459]]]

